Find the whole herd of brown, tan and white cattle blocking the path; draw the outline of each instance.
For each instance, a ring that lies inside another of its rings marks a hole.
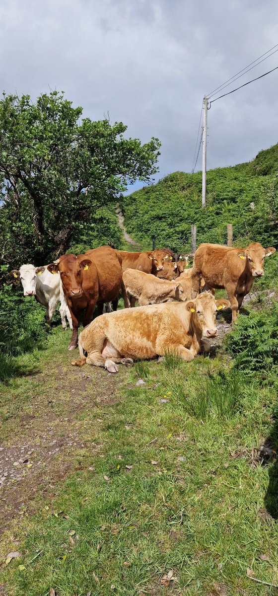
[[[72,364],[88,362],[116,373],[118,362],[129,366],[133,359],[167,352],[190,361],[207,352],[208,339],[217,335],[217,311],[231,306],[235,321],[254,278],[264,275],[265,256],[275,250],[260,243],[245,249],[201,244],[187,268],[188,256],[170,249],[130,253],[102,246],[77,256],[63,254],[42,267],[22,265],[11,274],[20,278],[24,296],[35,296],[46,307],[48,323],[60,301],[63,328],[68,319],[73,330],[70,350],[77,346],[83,317],[81,359]],[[215,288],[225,288],[229,301],[215,300]],[[125,308],[117,311],[120,294]],[[96,305],[102,316],[93,319]]]

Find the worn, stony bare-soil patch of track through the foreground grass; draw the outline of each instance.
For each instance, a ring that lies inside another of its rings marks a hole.
[[[17,413],[12,442],[7,437],[0,447],[0,533],[12,519],[32,511],[36,496],[55,495],[55,483],[88,468],[90,456],[101,452],[102,409],[119,399],[123,374],[123,368],[112,375],[68,364],[58,365],[52,385],[47,371],[36,377],[37,386],[43,381],[42,393],[32,396],[30,413]]]

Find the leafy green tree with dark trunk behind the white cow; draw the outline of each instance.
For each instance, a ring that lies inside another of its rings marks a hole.
[[[115,207],[127,184],[157,172],[160,142],[126,138],[126,126],[82,119],[57,91],[0,101],[0,263],[46,262]],[[101,243],[101,238],[99,238]]]

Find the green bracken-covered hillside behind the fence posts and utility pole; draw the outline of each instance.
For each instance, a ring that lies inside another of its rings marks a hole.
[[[252,162],[207,173],[207,207],[202,209],[202,173],[174,172],[157,184],[126,197],[127,231],[142,249],[170,246],[190,249],[190,228],[197,226],[197,243],[226,244],[227,224],[233,224],[238,244],[249,240],[278,243],[278,144],[260,151]]]

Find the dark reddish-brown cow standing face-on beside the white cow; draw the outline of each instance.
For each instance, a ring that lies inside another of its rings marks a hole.
[[[121,256],[110,246],[88,250],[86,254],[63,254],[51,265],[51,273],[60,273],[63,291],[73,321],[73,335],[69,350],[77,346],[80,316],[84,312],[83,326],[89,324],[95,312],[96,303],[100,310],[104,302],[112,302],[117,309],[118,293],[121,290],[128,306],[122,280]]]

